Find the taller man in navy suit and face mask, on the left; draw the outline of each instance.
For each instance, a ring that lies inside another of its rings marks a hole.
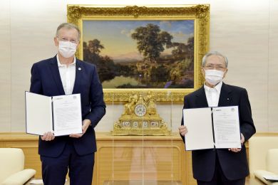
[[[81,94],[82,134],[54,137],[48,132],[39,137],[43,184],[65,184],[68,170],[71,185],[92,183],[96,152],[94,127],[105,115],[105,103],[96,66],[74,56],[79,39],[77,26],[62,23],[54,38],[57,55],[34,63],[31,69],[32,93],[46,96]]]

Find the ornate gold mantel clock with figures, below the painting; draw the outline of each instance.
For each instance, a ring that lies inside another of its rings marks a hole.
[[[170,135],[167,124],[158,115],[153,93],[132,93],[119,120],[114,123],[113,135]]]

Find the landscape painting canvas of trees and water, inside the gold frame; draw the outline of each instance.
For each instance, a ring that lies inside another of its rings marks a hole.
[[[194,21],[88,21],[83,28],[83,60],[97,66],[103,88],[194,88]]]

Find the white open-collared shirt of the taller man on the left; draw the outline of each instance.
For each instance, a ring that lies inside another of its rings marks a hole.
[[[58,69],[60,77],[63,83],[63,90],[66,95],[71,95],[73,93],[73,86],[76,80],[76,57],[73,59],[73,63],[66,66],[66,64],[61,64],[58,55],[56,56],[58,61]]]

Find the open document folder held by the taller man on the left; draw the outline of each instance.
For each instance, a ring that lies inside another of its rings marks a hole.
[[[55,136],[82,133],[81,96],[48,97],[25,92],[26,133]]]

